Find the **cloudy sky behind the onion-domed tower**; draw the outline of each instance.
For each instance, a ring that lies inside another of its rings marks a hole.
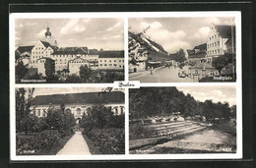
[[[16,19],[15,46],[34,45],[39,39],[45,39],[47,25],[59,47],[124,49],[124,23],[118,18]]]

